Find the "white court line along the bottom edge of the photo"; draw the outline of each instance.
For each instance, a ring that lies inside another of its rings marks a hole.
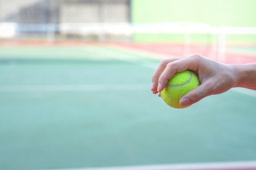
[[[105,168],[73,168],[56,170],[256,170],[256,161],[187,163],[146,166],[123,166]]]

